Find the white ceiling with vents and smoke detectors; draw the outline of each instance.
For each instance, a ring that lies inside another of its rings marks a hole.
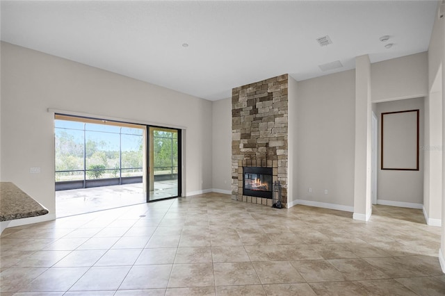
[[[209,100],[428,50],[436,1],[1,1],[1,40]],[[329,35],[321,47],[316,38]],[[385,49],[382,35],[394,43]],[[189,44],[183,47],[182,44]],[[340,60],[340,69],[318,65]]]

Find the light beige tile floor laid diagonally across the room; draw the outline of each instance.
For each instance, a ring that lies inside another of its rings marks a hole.
[[[1,233],[1,296],[445,295],[440,228],[209,193]]]

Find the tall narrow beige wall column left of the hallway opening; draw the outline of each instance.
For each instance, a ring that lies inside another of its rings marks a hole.
[[[355,58],[355,177],[353,219],[371,217],[371,62]]]

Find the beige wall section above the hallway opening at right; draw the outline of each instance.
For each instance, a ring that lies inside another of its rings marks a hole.
[[[371,81],[373,103],[425,97],[428,94],[428,53],[373,63]]]

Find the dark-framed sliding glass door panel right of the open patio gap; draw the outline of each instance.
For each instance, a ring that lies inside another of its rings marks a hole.
[[[148,201],[181,196],[181,131],[149,126]]]

